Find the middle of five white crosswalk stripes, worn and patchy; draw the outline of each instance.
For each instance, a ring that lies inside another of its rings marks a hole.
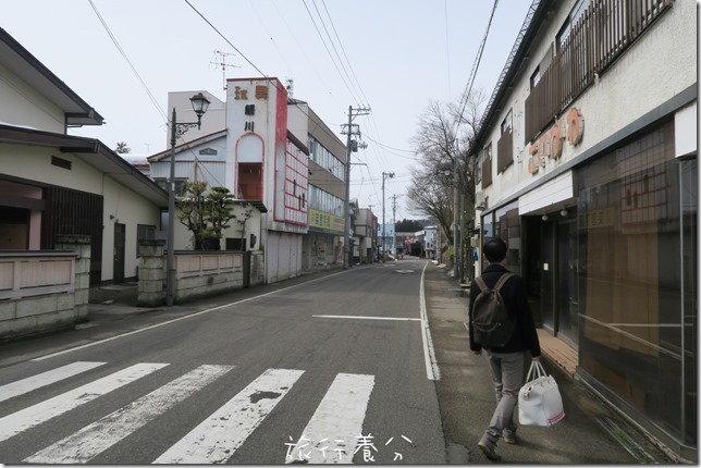
[[[146,396],[25,458],[29,464],[86,464],[234,366],[200,366]]]

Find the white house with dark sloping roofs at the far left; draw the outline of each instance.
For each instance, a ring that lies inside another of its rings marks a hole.
[[[90,284],[136,278],[137,242],[160,230],[168,194],[70,126],[102,116],[0,28],[0,249],[53,249],[89,235]]]

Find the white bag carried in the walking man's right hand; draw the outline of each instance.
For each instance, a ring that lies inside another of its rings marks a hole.
[[[518,392],[518,420],[522,426],[546,427],[564,417],[563,398],[555,379],[545,374],[542,364],[531,361],[526,385]]]

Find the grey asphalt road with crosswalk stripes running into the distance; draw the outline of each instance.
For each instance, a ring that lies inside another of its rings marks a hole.
[[[7,347],[0,463],[444,464],[426,264],[157,310],[102,341],[94,329]]]

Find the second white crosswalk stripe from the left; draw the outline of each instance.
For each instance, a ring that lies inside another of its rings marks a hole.
[[[168,366],[167,364],[137,364],[102,379],[54,396],[21,411],[0,418],[0,441],[10,439],[98,396],[126,385],[144,375]]]

